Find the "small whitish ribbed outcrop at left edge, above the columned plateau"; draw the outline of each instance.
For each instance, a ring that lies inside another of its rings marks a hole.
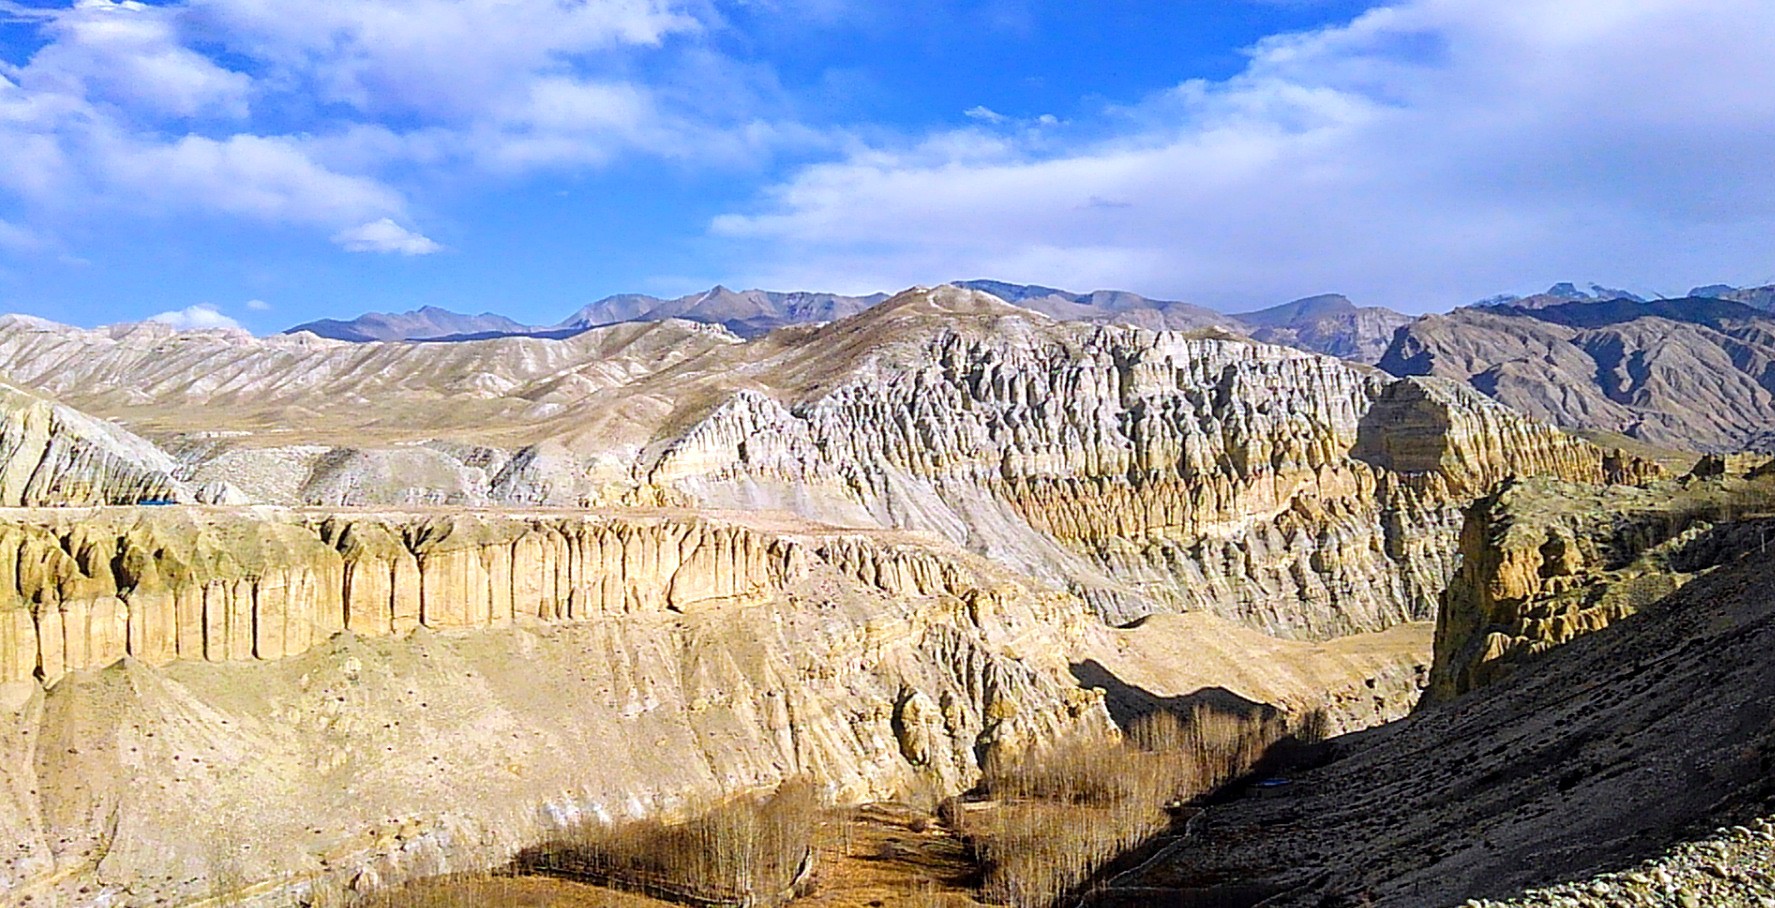
[[[192,500],[176,470],[117,426],[0,385],[0,507]]]

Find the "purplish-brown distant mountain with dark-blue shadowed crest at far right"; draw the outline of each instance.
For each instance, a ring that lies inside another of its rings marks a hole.
[[[1775,319],[1736,303],[1461,309],[1402,328],[1381,367],[1464,381],[1567,429],[1775,450]]]

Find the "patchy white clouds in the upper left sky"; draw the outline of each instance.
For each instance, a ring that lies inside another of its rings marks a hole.
[[[43,39],[28,59],[0,59],[0,200],[64,218],[222,213],[426,254],[437,243],[398,222],[435,176],[630,153],[744,160],[802,138],[747,114],[744,78],[703,80],[722,66],[706,48],[660,67],[689,80],[671,98],[637,74],[635,53],[705,28],[715,12],[701,0],[0,11]]]

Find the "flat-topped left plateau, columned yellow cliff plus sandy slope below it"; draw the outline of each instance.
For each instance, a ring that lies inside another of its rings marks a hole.
[[[112,509],[0,550],[9,897],[485,865],[790,775],[953,791],[1108,725],[1074,599],[898,534]]]

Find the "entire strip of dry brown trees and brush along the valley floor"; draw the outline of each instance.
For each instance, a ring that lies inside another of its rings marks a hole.
[[[1049,908],[1115,858],[1164,832],[1173,809],[1253,771],[1282,750],[1278,745],[1317,741],[1322,729],[1319,713],[1290,732],[1276,713],[1211,706],[1187,713],[1157,711],[1134,720],[1124,736],[1074,738],[1019,759],[992,759],[980,784],[985,800],[951,798],[941,816],[966,841],[980,867],[978,897],[1015,908]],[[660,904],[653,899],[699,906],[786,904],[808,894],[815,853],[824,855],[822,864],[882,869],[930,860],[909,842],[927,830],[937,839],[950,834],[932,826],[927,807],[877,807],[836,821],[838,814],[831,814],[822,823],[813,787],[792,782],[767,796],[721,803],[683,823],[575,826],[520,855],[509,867],[515,878],[442,880],[380,892],[357,904],[532,904],[538,878],[548,876],[591,883],[564,903],[588,908]],[[859,823],[903,830],[911,839],[873,834],[866,842],[854,841]],[[918,876],[923,874],[914,880]],[[950,876],[946,873],[941,883],[930,878],[911,887],[902,883],[893,904],[974,904],[966,896],[971,881]],[[820,892],[825,888],[822,883]],[[825,904],[831,894],[822,899]],[[880,904],[879,897],[870,904]]]

